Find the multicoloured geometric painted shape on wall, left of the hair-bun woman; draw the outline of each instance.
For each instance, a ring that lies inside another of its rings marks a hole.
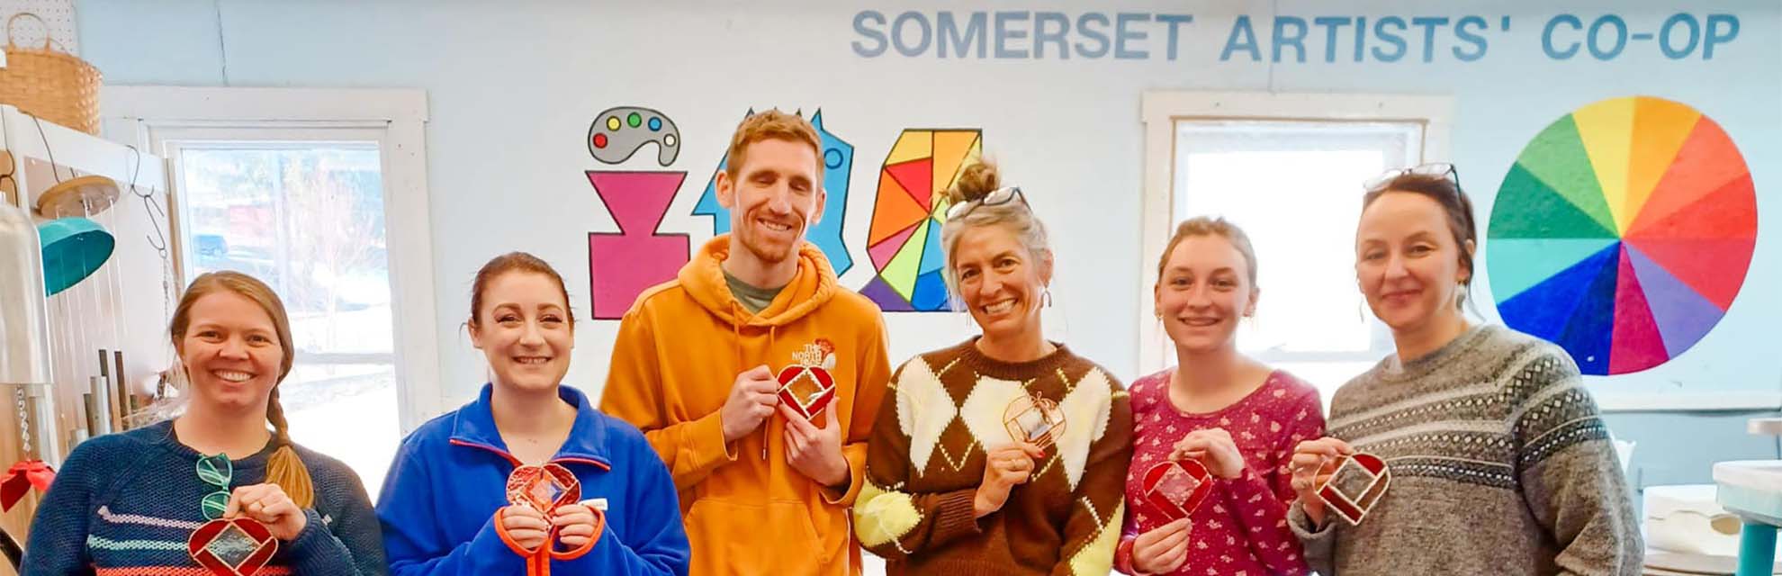
[[[866,255],[879,275],[861,294],[886,312],[946,310],[941,223],[946,189],[982,153],[982,130],[903,130],[879,171]]]

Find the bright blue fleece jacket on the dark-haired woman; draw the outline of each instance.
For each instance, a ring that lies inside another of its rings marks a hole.
[[[497,514],[519,464],[508,453],[483,385],[476,401],[421,424],[403,440],[378,498],[383,546],[396,576],[524,576],[526,558],[503,540]],[[581,498],[606,499],[606,531],[584,555],[551,560],[551,574],[686,574],[681,503],[638,428],[601,414],[572,387],[568,440],[551,462],[581,480]]]

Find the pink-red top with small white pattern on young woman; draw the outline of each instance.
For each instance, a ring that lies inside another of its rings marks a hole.
[[[1299,539],[1287,526],[1294,501],[1292,460],[1299,440],[1324,435],[1319,391],[1288,373],[1274,371],[1242,399],[1208,414],[1189,414],[1169,401],[1174,367],[1132,385],[1133,453],[1126,473],[1126,526],[1114,565],[1139,574],[1132,544],[1139,533],[1167,524],[1142,499],[1140,478],[1169,458],[1189,432],[1224,428],[1244,453],[1244,476],[1214,478],[1214,492],[1189,517],[1189,560],[1173,574],[1263,576],[1306,574]]]

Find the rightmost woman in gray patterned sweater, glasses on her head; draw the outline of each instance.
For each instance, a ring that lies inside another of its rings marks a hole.
[[[1397,353],[1331,399],[1296,449],[1288,524],[1320,574],[1639,574],[1643,544],[1609,430],[1565,350],[1468,325],[1472,203],[1447,164],[1367,185],[1356,284]],[[1313,494],[1340,455],[1386,462],[1358,524]]]

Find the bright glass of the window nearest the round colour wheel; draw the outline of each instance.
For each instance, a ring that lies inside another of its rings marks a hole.
[[[1376,321],[1354,289],[1361,182],[1413,164],[1417,123],[1180,121],[1176,218],[1224,216],[1256,248],[1262,298],[1247,353],[1367,353]]]

